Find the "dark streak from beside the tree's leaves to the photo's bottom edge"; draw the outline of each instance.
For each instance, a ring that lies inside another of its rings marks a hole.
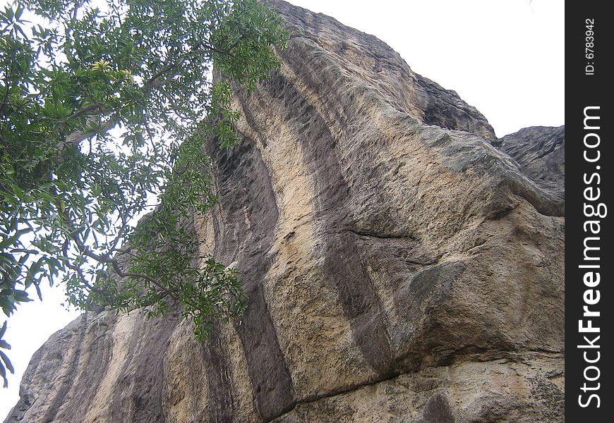
[[[255,142],[242,136],[231,152],[212,151],[217,162],[219,207],[215,215],[215,256],[238,262],[249,306],[236,322],[253,388],[255,409],[265,420],[294,406],[294,388],[270,317],[263,280],[271,266],[279,213],[269,171]],[[224,367],[224,363],[219,363]],[[219,372],[227,372],[219,369]]]

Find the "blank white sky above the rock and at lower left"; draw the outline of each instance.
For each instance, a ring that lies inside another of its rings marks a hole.
[[[498,137],[565,123],[565,9],[560,0],[291,0],[373,34],[417,73],[455,90],[486,116]],[[0,1],[0,5],[6,1]],[[32,293],[30,296],[35,297]],[[60,290],[20,307],[4,338],[15,375],[0,388],[0,421],[40,345],[77,316]],[[4,314],[3,316],[4,317]],[[0,322],[2,319],[0,318]]]

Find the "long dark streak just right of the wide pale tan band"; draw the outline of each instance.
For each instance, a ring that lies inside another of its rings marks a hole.
[[[287,111],[284,120],[294,123],[299,131],[305,162],[314,175],[315,215],[325,234],[325,274],[337,286],[344,314],[361,353],[380,376],[392,375],[395,368],[383,321],[383,306],[361,264],[356,235],[344,231],[353,228],[354,221],[347,209],[351,192],[342,176],[335,138],[323,116],[284,75],[275,75],[269,89],[271,96],[282,103],[279,109]]]

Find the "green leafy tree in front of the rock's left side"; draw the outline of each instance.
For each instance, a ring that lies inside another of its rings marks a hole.
[[[176,305],[201,340],[245,309],[236,271],[198,257],[190,222],[216,201],[205,142],[237,142],[227,81],[251,90],[267,78],[280,28],[257,0],[25,0],[0,11],[7,316],[47,281],[85,309],[157,316]],[[212,66],[226,78],[212,82]],[[6,386],[5,366],[0,351]]]

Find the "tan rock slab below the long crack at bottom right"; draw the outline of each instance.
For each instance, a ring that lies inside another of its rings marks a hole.
[[[558,360],[525,354],[427,367],[299,404],[274,422],[563,422],[563,390]]]

